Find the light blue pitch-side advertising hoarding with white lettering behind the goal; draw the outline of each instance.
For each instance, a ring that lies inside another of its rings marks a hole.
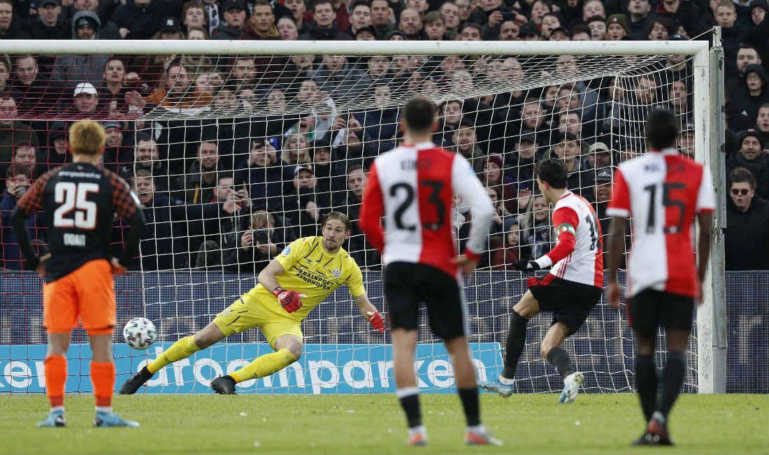
[[[115,345],[115,388],[154,359],[171,343],[158,343],[145,353],[125,344]],[[35,394],[45,391],[42,344],[0,346],[0,394]],[[478,379],[497,377],[502,365],[498,343],[471,343]],[[202,350],[165,367],[146,387],[149,394],[209,394],[211,379],[238,370],[262,354],[273,352],[268,344],[221,344]],[[68,394],[90,393],[91,349],[73,344],[68,350]],[[392,347],[389,344],[305,344],[301,359],[269,377],[238,384],[241,394],[381,394],[394,392]],[[425,392],[456,390],[454,372],[442,344],[419,344],[414,370]]]

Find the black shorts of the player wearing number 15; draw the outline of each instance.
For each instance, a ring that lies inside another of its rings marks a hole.
[[[691,330],[694,297],[644,289],[628,304],[628,321],[634,330],[656,334],[657,327]]]

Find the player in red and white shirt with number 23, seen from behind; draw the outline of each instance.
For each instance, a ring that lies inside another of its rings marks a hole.
[[[381,253],[384,294],[392,334],[396,395],[408,420],[408,443],[424,445],[414,348],[420,302],[432,332],[441,337],[454,364],[454,376],[468,423],[465,442],[498,444],[481,424],[478,385],[468,341],[460,266],[469,273],[485,247],[494,208],[461,154],[436,147],[435,108],[415,97],[404,108],[404,144],[376,158],[368,174],[361,207],[361,230]],[[453,195],[470,206],[472,228],[458,256],[451,224]],[[381,218],[384,216],[384,228]]]

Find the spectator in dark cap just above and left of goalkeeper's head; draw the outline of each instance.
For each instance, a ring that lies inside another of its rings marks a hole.
[[[294,168],[294,178],[283,188],[283,210],[298,237],[318,234],[318,220],[331,208],[328,194],[315,191],[315,174],[302,164]]]

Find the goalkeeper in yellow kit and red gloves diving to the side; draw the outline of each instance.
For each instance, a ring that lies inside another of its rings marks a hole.
[[[259,284],[218,314],[197,334],[181,338],[160,357],[125,381],[120,394],[135,394],[162,367],[195,354],[224,337],[259,327],[274,353],[265,354],[226,376],[211,381],[217,394],[235,394],[235,384],[269,376],[301,357],[301,320],[342,284],[366,319],[384,331],[384,320],[368,301],[363,275],[341,244],[350,237],[347,215],[332,211],[321,220],[321,237],[291,242],[259,274]]]

